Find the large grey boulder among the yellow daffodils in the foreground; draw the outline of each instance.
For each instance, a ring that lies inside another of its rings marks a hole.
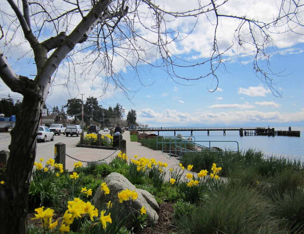
[[[122,214],[122,218],[124,216],[123,214],[131,214],[136,210],[140,210],[144,206],[145,209],[147,209],[146,213],[148,225],[151,225],[151,223],[157,223],[157,211],[159,210],[159,206],[153,195],[145,190],[136,189],[135,186],[131,184],[126,177],[116,172],[113,172],[105,177],[103,182],[106,183],[110,189],[110,194],[105,195],[104,191],[101,191],[101,187],[99,187],[95,192],[94,197],[91,199],[92,205],[98,207],[99,205],[111,201],[113,203],[113,206],[115,206],[115,203],[118,203],[117,207],[121,208],[120,213]],[[135,189],[135,192],[138,194],[138,198],[134,201],[132,199],[129,199],[128,201],[119,203],[118,193],[126,189],[129,189],[131,191]],[[128,229],[133,226],[132,214],[129,215],[125,226]]]

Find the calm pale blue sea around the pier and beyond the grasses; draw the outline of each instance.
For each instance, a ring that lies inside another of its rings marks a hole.
[[[275,130],[288,131],[288,127],[275,127]],[[253,148],[261,150],[265,155],[276,155],[282,157],[296,158],[304,162],[304,127],[292,127],[293,131],[301,131],[301,136],[243,136],[238,131],[210,131],[209,136],[206,131],[194,131],[192,140],[196,141],[237,141],[240,150]],[[157,132],[156,132],[157,134]],[[176,132],[185,138],[190,136],[189,132]],[[160,132],[163,136],[174,136],[174,132]],[[203,146],[209,146],[209,142],[197,142]],[[216,146],[221,149],[237,149],[235,142],[211,142],[210,146]]]

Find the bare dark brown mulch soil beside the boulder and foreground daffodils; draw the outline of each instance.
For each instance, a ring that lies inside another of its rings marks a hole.
[[[162,233],[162,234],[167,234],[167,233],[174,233],[174,228],[172,226],[172,215],[174,212],[173,204],[171,202],[166,202],[164,201],[160,206],[159,206],[159,211],[157,212],[159,218],[157,223],[153,227],[146,227],[140,232],[137,232],[138,234],[151,234],[151,233]],[[27,215],[28,219],[28,224],[33,224],[35,226],[40,226],[41,221],[40,219],[34,219],[32,220],[31,218],[35,218],[35,211],[30,211],[29,214]],[[58,216],[58,217],[57,217]],[[55,215],[53,217],[53,220],[56,220],[59,218],[59,215]],[[137,234],[135,233],[135,234]]]

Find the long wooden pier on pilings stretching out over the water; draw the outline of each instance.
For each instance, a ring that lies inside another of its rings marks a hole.
[[[275,131],[275,128],[268,127],[206,127],[206,128],[140,128],[140,129],[129,129],[140,132],[157,132],[158,136],[160,132],[174,132],[176,131],[187,131],[193,136],[195,131],[205,131],[209,136],[211,131],[223,131],[223,135],[226,135],[226,131],[239,131],[240,136],[300,136],[300,131],[291,131],[291,127],[288,131]]]

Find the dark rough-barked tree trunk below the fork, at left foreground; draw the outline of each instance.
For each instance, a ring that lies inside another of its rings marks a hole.
[[[42,101],[24,97],[19,118],[11,131],[5,184],[0,188],[0,233],[27,233],[29,185],[36,157],[37,129]],[[22,147],[19,147],[22,146]]]

